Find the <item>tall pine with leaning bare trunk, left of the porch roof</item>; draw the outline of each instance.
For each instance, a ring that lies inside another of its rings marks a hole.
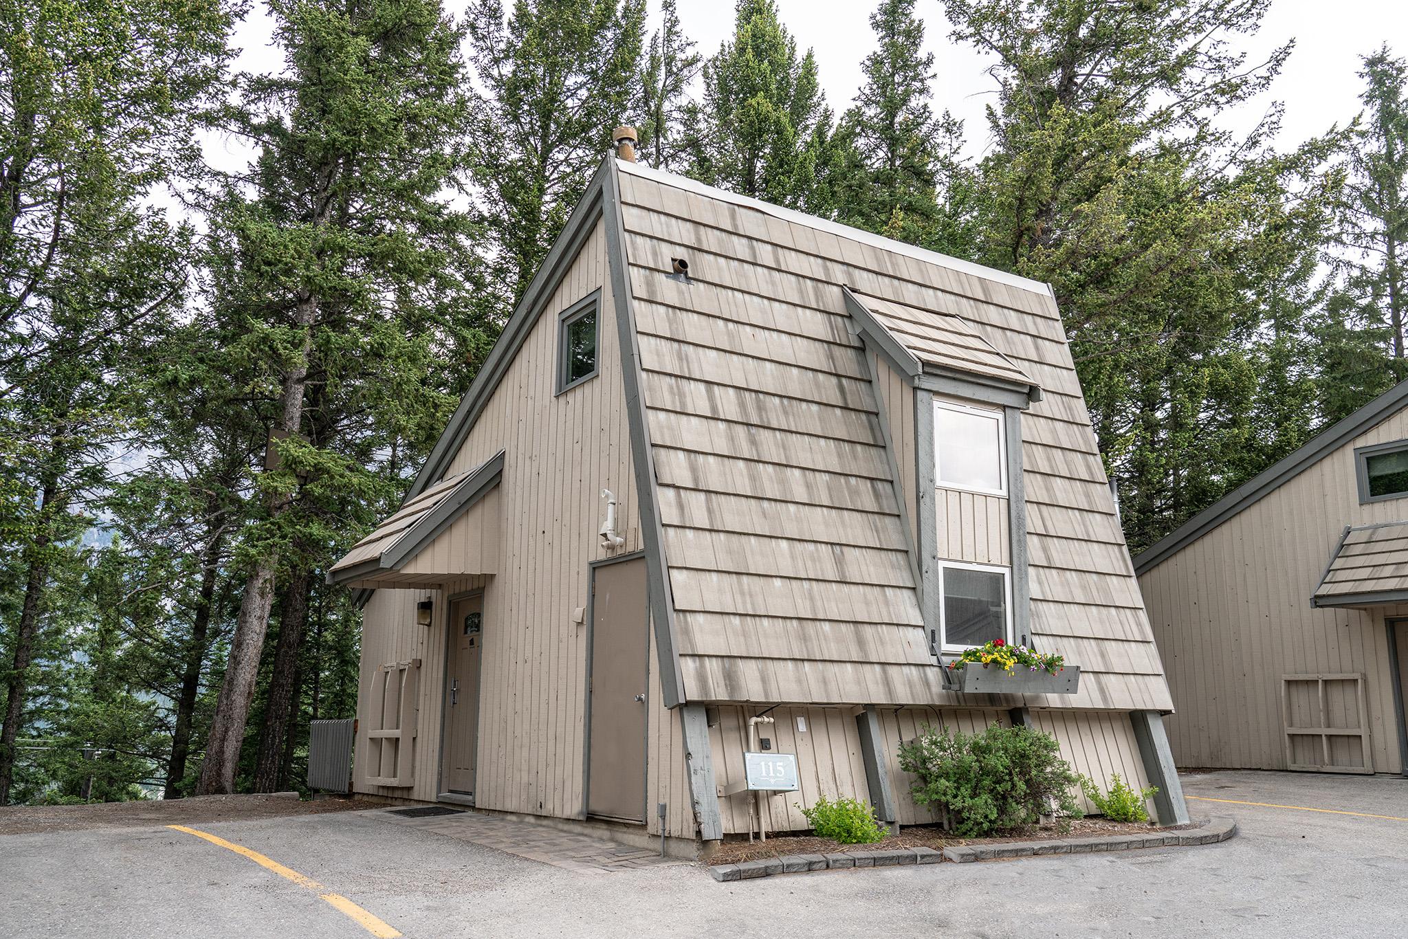
[[[325,562],[400,496],[398,460],[453,407],[442,360],[484,338],[477,229],[446,197],[467,169],[462,31],[435,0],[272,10],[284,69],[244,82],[244,132],[262,152],[252,183],[208,214],[211,304],[262,369],[251,391],[269,458],[237,552],[203,794],[235,788],[280,572]]]

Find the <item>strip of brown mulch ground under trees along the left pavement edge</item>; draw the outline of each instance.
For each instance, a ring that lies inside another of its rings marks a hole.
[[[360,798],[320,798],[303,802],[291,795],[201,795],[89,805],[7,805],[0,808],[0,835],[68,832],[84,828],[148,828],[194,822],[238,822],[283,815],[318,815],[384,808]]]

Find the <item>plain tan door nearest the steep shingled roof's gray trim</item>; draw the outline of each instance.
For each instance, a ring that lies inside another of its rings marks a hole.
[[[645,821],[645,560],[593,569],[587,812]]]

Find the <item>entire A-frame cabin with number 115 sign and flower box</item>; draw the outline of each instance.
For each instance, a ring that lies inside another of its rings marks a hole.
[[[932,822],[900,742],[1022,721],[1186,819],[1050,289],[648,169],[629,137],[329,573],[366,598],[355,790],[693,850],[805,829],[818,795]],[[995,638],[1079,687],[946,688],[941,657]],[[750,793],[745,750],[796,790]]]

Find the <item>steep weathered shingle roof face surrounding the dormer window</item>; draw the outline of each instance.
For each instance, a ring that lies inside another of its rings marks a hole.
[[[849,284],[918,332],[938,328],[932,314],[960,317],[994,362],[1043,389],[1022,421],[1032,634],[1087,680],[1074,700],[1028,704],[1171,707],[1049,293],[621,170],[691,700],[963,704],[938,690],[928,659],[877,422],[881,401],[897,435],[912,417],[900,415],[903,386],[870,382],[848,329]],[[669,276],[681,256],[691,283]]]

